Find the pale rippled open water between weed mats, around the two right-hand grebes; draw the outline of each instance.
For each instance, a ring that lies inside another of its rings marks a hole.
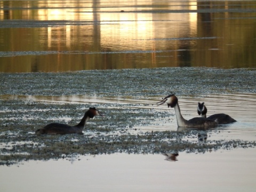
[[[10,96],[9,96],[10,97]],[[1,97],[0,97],[1,98]],[[170,114],[158,119],[154,119],[146,126],[135,126],[131,130],[132,134],[140,134],[140,132],[151,131],[177,131],[177,120],[175,118],[174,109],[167,108],[166,105],[157,106],[156,102],[159,101],[160,96],[150,97],[149,99],[133,99],[126,97],[88,97],[85,95],[70,95],[70,96],[19,96],[19,99],[27,99],[33,102],[44,102],[50,105],[64,105],[65,103],[77,104],[77,103],[90,103],[90,105],[105,106],[103,110],[123,108],[123,110],[131,110],[132,108],[138,109],[153,109],[157,113],[159,111],[165,111],[166,114]],[[226,140],[256,140],[256,94],[214,94],[205,95],[201,97],[185,97],[179,99],[179,106],[181,113],[185,119],[191,119],[193,117],[199,117],[197,114],[197,103],[204,102],[208,109],[207,116],[225,113],[236,119],[236,123],[221,125],[219,130],[221,134],[211,132],[212,137],[208,139],[221,139]],[[134,106],[135,105],[135,106]],[[243,106],[243,107],[241,107]],[[40,109],[38,109],[40,110]],[[37,114],[41,115],[41,114]],[[134,114],[135,115],[135,114]],[[139,114],[135,117],[139,118]],[[31,117],[35,118],[35,117]],[[45,117],[40,117],[45,118]],[[57,119],[53,119],[56,121]],[[70,119],[67,118],[68,122]],[[214,136],[213,136],[214,135]],[[197,139],[197,138],[196,138]]]

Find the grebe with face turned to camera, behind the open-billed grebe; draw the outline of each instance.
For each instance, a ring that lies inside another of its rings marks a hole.
[[[206,118],[207,108],[205,107],[204,102],[202,102],[202,103],[198,102],[197,113],[198,113],[198,115],[201,115],[201,117]],[[223,114],[223,113],[211,115],[211,116],[207,117],[207,119],[218,122],[219,124],[228,124],[228,123],[236,122],[235,119],[233,119],[229,115]]]

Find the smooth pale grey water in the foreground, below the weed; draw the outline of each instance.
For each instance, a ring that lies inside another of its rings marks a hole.
[[[255,149],[113,154],[0,167],[1,191],[255,191]],[[218,189],[217,189],[218,188]]]

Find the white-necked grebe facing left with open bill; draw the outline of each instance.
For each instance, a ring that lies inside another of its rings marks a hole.
[[[206,128],[206,127],[215,127],[218,125],[217,122],[203,117],[195,117],[189,120],[186,120],[182,117],[180,113],[180,107],[178,104],[178,98],[174,94],[170,94],[165,97],[162,101],[157,102],[157,105],[162,105],[166,103],[168,107],[174,108],[178,127],[191,127],[191,128]]]

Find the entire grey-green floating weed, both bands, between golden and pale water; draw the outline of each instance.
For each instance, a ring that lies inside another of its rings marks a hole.
[[[74,125],[90,103],[51,103],[19,95],[96,95],[147,98],[175,92],[185,95],[256,93],[254,69],[158,68],[92,70],[72,73],[0,73],[0,164],[47,160],[86,154],[205,153],[218,149],[255,147],[241,140],[205,140],[197,131],[140,132],[171,113],[132,103],[98,103],[104,118],[91,119],[83,135],[35,135],[54,122]],[[173,118],[174,115],[173,115]],[[137,128],[134,128],[137,127]],[[211,135],[213,131],[205,131]],[[193,140],[193,141],[191,141]]]

